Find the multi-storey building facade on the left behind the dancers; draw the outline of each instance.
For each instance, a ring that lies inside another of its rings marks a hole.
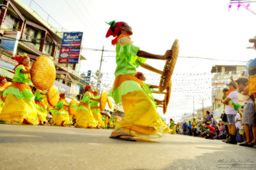
[[[86,82],[79,77],[79,64],[59,64],[62,33],[40,17],[20,0],[0,0],[8,8],[0,13],[0,74],[12,80],[13,67],[17,64],[11,57],[27,53],[31,63],[47,55],[56,66],[56,85],[67,96],[76,96]],[[85,60],[83,56],[80,60]]]

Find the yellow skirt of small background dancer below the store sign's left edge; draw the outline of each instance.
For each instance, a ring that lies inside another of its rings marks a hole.
[[[68,112],[60,110],[59,114],[52,113],[52,125],[70,125]]]

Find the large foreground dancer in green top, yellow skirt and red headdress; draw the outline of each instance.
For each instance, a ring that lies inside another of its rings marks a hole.
[[[148,59],[166,60],[172,57],[172,50],[164,55],[154,55],[140,50],[132,44],[131,27],[125,22],[109,23],[106,34],[116,37],[112,45],[116,45],[116,71],[113,88],[109,92],[115,104],[122,102],[125,117],[116,125],[110,138],[136,141],[137,138],[159,138],[168,132],[168,126],[159,120],[156,106],[143,92],[136,74],[136,67]]]

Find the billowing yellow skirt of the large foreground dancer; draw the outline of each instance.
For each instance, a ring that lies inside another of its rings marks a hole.
[[[125,133],[137,138],[160,138],[169,132],[158,117],[156,106],[143,91],[122,96],[125,117],[116,124],[113,133]]]

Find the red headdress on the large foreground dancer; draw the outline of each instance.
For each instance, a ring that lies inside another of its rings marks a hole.
[[[113,20],[109,23],[108,22],[106,23],[110,25],[108,32],[106,34],[106,38],[108,38],[109,36],[116,37],[115,39],[112,40],[112,45],[116,45],[117,39],[118,39],[118,33],[121,30],[121,26],[124,25],[125,22],[116,22],[115,20]]]

